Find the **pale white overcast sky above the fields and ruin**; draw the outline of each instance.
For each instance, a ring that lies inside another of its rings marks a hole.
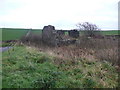
[[[75,29],[90,22],[102,30],[118,29],[119,0],[0,0],[0,28]]]

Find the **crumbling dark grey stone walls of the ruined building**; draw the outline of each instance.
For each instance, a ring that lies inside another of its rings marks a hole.
[[[42,41],[49,46],[60,46],[74,44],[76,40],[67,40],[64,38],[65,31],[55,30],[52,25],[44,26],[42,30]],[[69,31],[70,37],[79,37],[79,32],[77,30]]]

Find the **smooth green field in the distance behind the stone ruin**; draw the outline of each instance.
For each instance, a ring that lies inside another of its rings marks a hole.
[[[34,34],[41,34],[42,29],[19,29],[19,28],[0,28],[2,30],[2,40],[18,40],[22,36],[26,35],[29,30],[31,30]],[[83,31],[80,31],[82,34]],[[120,35],[118,30],[111,30],[111,31],[101,31],[103,35]],[[68,32],[65,32],[68,35]]]

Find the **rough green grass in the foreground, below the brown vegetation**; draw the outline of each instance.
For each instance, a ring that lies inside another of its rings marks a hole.
[[[15,46],[2,56],[3,88],[115,88],[118,74],[109,62],[78,59],[75,63]]]

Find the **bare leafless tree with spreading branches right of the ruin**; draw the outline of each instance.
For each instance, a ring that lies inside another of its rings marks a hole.
[[[84,34],[89,37],[95,36],[95,34],[97,34],[96,31],[100,31],[97,25],[89,22],[78,23],[76,26],[78,30],[84,31]]]

